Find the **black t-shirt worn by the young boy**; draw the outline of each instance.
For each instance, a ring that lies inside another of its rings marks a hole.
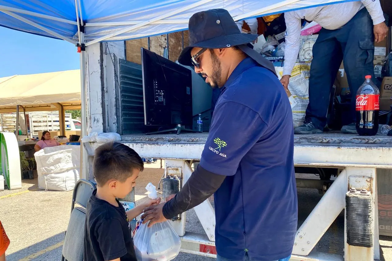
[[[87,202],[84,236],[84,261],[137,261],[131,225],[125,209],[96,197],[96,190]]]

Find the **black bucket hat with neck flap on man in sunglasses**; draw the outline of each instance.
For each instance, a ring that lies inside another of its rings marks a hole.
[[[241,33],[227,10],[211,9],[195,13],[189,19],[188,28],[189,46],[185,47],[178,57],[178,62],[182,65],[193,66],[193,47],[216,49],[238,46],[241,51],[276,75],[274,65],[249,47],[249,43],[256,40],[258,35]]]

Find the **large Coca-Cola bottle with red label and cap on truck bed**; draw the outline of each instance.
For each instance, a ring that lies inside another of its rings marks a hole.
[[[380,92],[371,78],[370,75],[365,76],[365,82],[358,89],[355,103],[356,129],[361,136],[374,136],[378,130]]]

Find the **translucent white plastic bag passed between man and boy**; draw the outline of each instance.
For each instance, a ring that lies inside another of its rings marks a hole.
[[[155,186],[149,183],[146,189],[150,192],[148,197],[156,199]],[[147,227],[140,220],[134,231],[134,247],[138,261],[169,261],[180,253],[181,240],[172,228],[170,221],[156,223]]]

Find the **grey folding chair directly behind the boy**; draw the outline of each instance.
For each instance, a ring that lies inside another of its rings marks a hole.
[[[84,223],[87,201],[96,188],[94,183],[85,179],[76,182],[71,205],[71,217],[65,231],[61,261],[83,261]],[[75,207],[75,203],[81,207]]]

